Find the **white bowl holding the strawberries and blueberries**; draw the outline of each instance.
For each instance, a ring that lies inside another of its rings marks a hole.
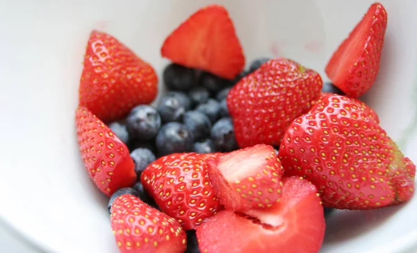
[[[74,130],[90,30],[114,35],[158,72],[168,33],[212,1],[8,1],[0,8],[0,214],[50,252],[117,252],[107,198],[85,172]],[[214,1],[229,10],[247,57],[279,55],[323,69],[371,0]],[[417,1],[389,13],[377,82],[366,101],[417,162]],[[417,199],[377,211],[338,211],[321,252],[410,252]],[[1,251],[1,250],[0,250]],[[220,252],[221,253],[221,252]]]

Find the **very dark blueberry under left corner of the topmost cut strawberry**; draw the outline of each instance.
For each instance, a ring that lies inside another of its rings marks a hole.
[[[163,82],[168,89],[188,91],[196,85],[197,75],[194,69],[172,63],[163,71]]]

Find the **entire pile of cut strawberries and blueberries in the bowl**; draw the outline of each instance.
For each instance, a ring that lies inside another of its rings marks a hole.
[[[366,103],[386,10],[374,3],[326,67],[245,57],[227,10],[206,6],[163,42],[154,69],[93,30],[76,130],[120,252],[320,250],[333,209],[407,202],[416,166]]]

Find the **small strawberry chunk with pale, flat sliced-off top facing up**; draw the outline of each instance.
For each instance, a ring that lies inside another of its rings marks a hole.
[[[284,173],[272,146],[259,144],[208,160],[208,175],[224,208],[270,207],[281,197]]]

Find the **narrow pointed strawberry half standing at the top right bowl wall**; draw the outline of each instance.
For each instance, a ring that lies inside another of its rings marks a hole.
[[[327,63],[327,76],[347,96],[357,98],[375,82],[386,23],[384,6],[373,3]]]

